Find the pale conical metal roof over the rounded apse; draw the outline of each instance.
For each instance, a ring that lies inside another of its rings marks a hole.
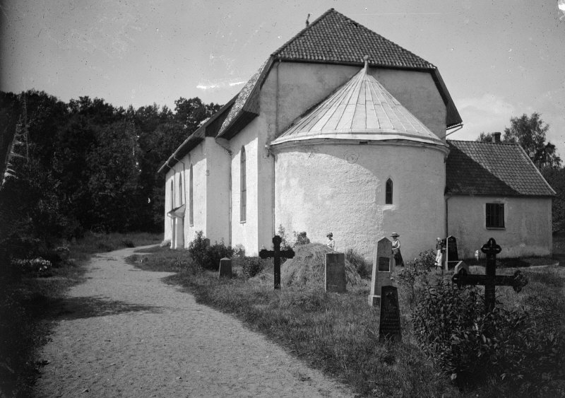
[[[273,145],[309,139],[404,139],[444,146],[432,131],[412,115],[367,66],[319,105],[297,119]]]

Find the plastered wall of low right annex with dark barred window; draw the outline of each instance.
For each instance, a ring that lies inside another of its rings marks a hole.
[[[486,226],[486,204],[504,204],[504,229]],[[502,247],[499,257],[552,254],[552,199],[537,197],[450,197],[448,235],[457,238],[460,258],[472,258],[489,238]]]

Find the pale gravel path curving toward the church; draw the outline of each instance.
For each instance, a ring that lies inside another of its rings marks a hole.
[[[41,359],[38,397],[350,397],[230,315],[97,255],[69,292]]]

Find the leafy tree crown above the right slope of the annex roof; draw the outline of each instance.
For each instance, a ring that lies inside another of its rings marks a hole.
[[[540,114],[533,112],[521,117],[512,117],[510,127],[504,129],[504,142],[518,143],[540,170],[560,168],[561,158],[551,142],[545,142],[549,125],[543,122]]]

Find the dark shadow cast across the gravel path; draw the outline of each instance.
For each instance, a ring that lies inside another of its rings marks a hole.
[[[119,300],[108,300],[103,296],[64,298],[57,303],[54,317],[58,320],[78,320],[82,318],[117,315],[124,312],[160,312],[159,307],[139,305]]]

